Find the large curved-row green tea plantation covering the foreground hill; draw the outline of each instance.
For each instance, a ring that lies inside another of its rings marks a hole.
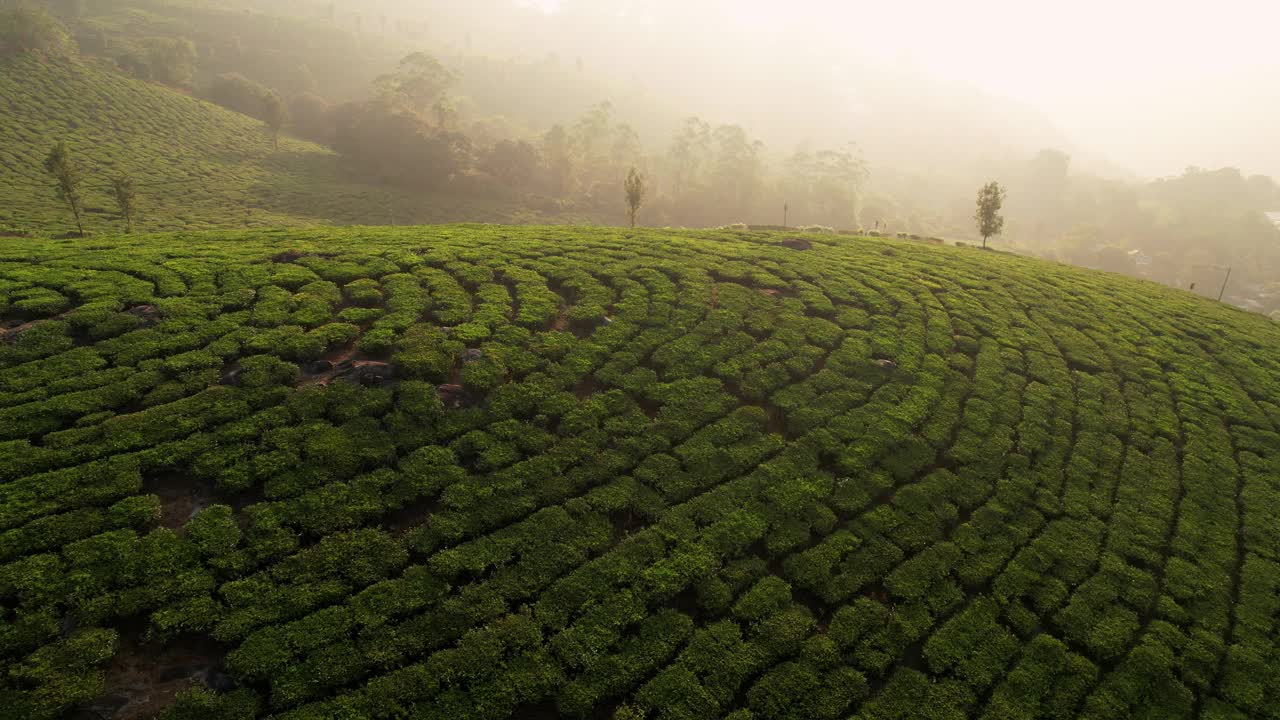
[[[1280,328],[837,236],[0,241],[0,715],[1280,717]]]

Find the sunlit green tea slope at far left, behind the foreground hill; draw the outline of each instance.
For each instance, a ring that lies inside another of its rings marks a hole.
[[[0,232],[76,229],[44,160],[67,140],[86,176],[86,229],[120,232],[111,178],[137,183],[138,228],[184,231],[300,224],[525,222],[532,211],[349,179],[338,155],[262,123],[79,60],[0,56]]]

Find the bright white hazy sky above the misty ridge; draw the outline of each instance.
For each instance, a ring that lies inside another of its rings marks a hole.
[[[751,37],[914,65],[1032,105],[1143,176],[1235,165],[1280,177],[1277,0],[566,1],[639,17],[658,6],[637,29],[724,53],[750,51]],[[681,13],[690,27],[672,28]]]

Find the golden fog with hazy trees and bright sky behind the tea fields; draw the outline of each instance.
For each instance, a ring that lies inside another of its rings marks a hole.
[[[424,197],[617,224],[635,170],[645,224],[972,243],[995,181],[1004,250],[1184,288],[1235,266],[1280,309],[1275,3],[51,5],[84,54]]]

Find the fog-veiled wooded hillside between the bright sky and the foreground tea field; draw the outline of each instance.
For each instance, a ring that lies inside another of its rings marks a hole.
[[[943,79],[911,61],[919,42],[878,53],[877,37],[896,36],[874,26],[856,26],[868,45],[801,27],[803,12],[727,6],[54,4],[84,56],[250,115],[261,115],[257,95],[275,92],[297,135],[340,154],[340,177],[389,196],[399,188],[424,205],[388,213],[296,204],[314,218],[616,224],[625,219],[622,179],[636,167],[650,181],[646,224],[785,223],[974,240],[975,188],[998,179],[1009,191],[1002,249],[1215,296],[1219,266],[1230,266],[1226,301],[1280,309],[1280,234],[1261,213],[1280,205],[1270,178],[1188,168],[1153,182],[1106,179],[1125,173],[1073,143],[1051,118],[979,91],[980,78]],[[771,13],[800,24],[774,27],[764,22]],[[663,40],[660,63],[653,38]],[[156,44],[187,41],[188,72],[165,77]],[[442,72],[408,77],[403,61],[415,56],[430,60],[416,67],[439,61]],[[228,77],[239,81],[232,87],[255,88],[247,102],[219,91]],[[387,81],[417,90],[392,91]]]

